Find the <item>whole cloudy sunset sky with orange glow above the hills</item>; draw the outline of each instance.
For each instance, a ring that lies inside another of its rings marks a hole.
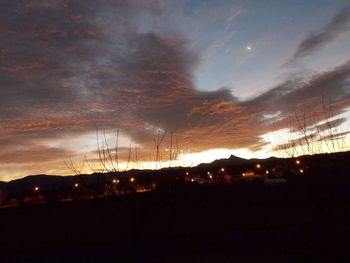
[[[348,150],[349,111],[347,0],[0,0],[0,180]]]

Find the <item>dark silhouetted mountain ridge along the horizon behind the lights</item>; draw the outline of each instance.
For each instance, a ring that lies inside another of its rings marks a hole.
[[[334,153],[334,154],[319,154],[312,156],[300,156],[298,159],[304,160],[310,167],[314,167],[317,171],[324,170],[321,166],[326,165],[336,167],[341,173],[344,170],[349,169],[350,152]],[[215,171],[218,168],[225,167],[230,173],[240,174],[240,170],[251,169],[255,163],[266,163],[265,167],[273,167],[275,165],[281,165],[285,163],[294,162],[293,158],[282,159],[276,157],[270,157],[267,159],[244,159],[231,155],[228,159],[215,160],[212,163],[199,164],[196,167],[171,167],[164,168],[158,171],[154,170],[130,170],[121,173],[120,176],[132,175],[138,178],[138,182],[142,183],[150,181],[165,180],[167,177],[184,176],[185,171],[193,169],[197,174],[206,174],[207,171]],[[346,169],[344,169],[346,167]],[[0,181],[0,187],[5,188],[8,193],[23,193],[33,191],[36,185],[45,191],[59,191],[64,188],[71,188],[75,183],[81,183],[85,186],[94,186],[97,184],[103,185],[105,182],[110,182],[113,178],[113,173],[94,173],[90,175],[79,176],[57,176],[57,175],[31,175],[21,179],[16,179],[8,183]]]

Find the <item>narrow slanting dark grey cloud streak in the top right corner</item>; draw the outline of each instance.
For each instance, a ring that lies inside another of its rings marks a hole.
[[[328,43],[335,40],[341,34],[350,30],[350,5],[343,7],[334,18],[318,32],[305,38],[295,50],[293,56],[284,65],[289,65],[297,59],[308,56]]]

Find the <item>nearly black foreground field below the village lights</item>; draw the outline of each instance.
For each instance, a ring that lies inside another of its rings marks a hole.
[[[2,209],[0,261],[350,262],[350,184],[337,180]]]

